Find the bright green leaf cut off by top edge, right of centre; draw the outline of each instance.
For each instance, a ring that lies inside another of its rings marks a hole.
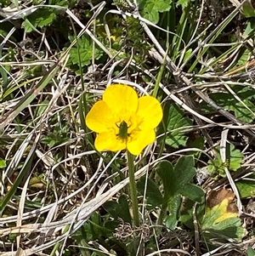
[[[158,23],[159,12],[167,12],[171,8],[172,0],[139,0],[141,15],[153,23]]]

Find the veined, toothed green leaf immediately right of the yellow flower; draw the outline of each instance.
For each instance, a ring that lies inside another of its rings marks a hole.
[[[167,102],[164,105],[163,122],[167,128],[166,143],[167,145],[178,148],[180,145],[186,145],[188,137],[181,133],[180,129],[192,125],[192,121],[188,117],[184,117],[184,111],[182,111],[178,105]],[[174,131],[178,129],[177,131]],[[160,133],[164,132],[163,126],[160,126]]]

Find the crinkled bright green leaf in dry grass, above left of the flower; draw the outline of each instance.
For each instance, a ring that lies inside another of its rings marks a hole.
[[[70,39],[72,40],[73,38],[71,37]],[[93,54],[95,60],[99,60],[99,58],[103,55],[103,51],[98,47],[95,47],[93,51],[94,46],[92,40],[86,35],[79,38],[77,40],[77,44],[78,48],[76,45],[70,50],[68,65],[79,65],[81,61],[82,67],[87,66],[90,65]]]

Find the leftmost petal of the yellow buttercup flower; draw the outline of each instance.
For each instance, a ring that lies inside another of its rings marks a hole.
[[[96,133],[105,132],[115,125],[111,111],[103,100],[99,100],[94,104],[88,112],[85,122],[88,128]]]

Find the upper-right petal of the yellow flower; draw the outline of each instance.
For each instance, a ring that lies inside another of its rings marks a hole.
[[[139,98],[137,116],[140,129],[156,128],[163,117],[161,104],[152,96],[143,96]]]

